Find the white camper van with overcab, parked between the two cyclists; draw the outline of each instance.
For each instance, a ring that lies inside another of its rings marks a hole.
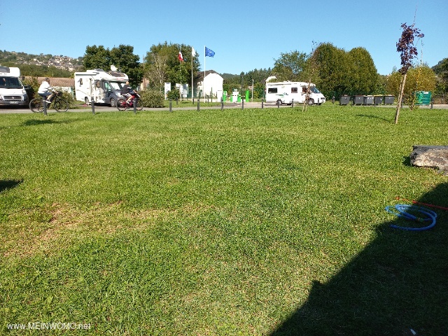
[[[129,78],[125,73],[113,69],[106,72],[103,69],[75,72],[75,97],[80,102],[89,104],[109,104],[116,106],[120,99],[120,91]]]

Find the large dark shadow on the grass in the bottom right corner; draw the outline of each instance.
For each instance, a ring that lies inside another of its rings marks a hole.
[[[419,202],[447,207],[448,183]],[[422,232],[395,217],[327,283],[315,281],[307,302],[272,336],[448,335],[448,214]],[[423,225],[424,226],[424,225]]]

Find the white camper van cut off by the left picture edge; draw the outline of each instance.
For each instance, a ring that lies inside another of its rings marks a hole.
[[[0,105],[28,106],[28,95],[20,80],[20,69],[0,66]]]

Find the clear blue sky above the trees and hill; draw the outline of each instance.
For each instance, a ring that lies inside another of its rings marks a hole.
[[[281,53],[309,53],[313,42],[346,51],[363,47],[380,74],[400,67],[395,43],[404,22],[425,34],[418,61],[448,57],[447,0],[153,1],[0,0],[0,49],[81,57],[87,45],[134,46],[143,57],[158,43],[214,50],[219,73],[274,66]]]

